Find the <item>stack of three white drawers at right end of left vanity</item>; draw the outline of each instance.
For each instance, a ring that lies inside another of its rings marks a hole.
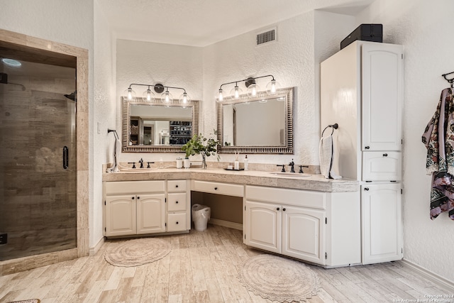
[[[191,229],[190,194],[187,180],[167,180],[167,231]]]

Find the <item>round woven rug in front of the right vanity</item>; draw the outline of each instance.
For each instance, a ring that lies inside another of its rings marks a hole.
[[[240,282],[251,292],[277,302],[301,302],[319,291],[319,277],[304,263],[257,255],[243,263]]]

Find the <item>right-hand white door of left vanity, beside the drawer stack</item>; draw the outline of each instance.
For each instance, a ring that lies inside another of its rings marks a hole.
[[[140,194],[137,203],[137,233],[165,231],[165,194]]]

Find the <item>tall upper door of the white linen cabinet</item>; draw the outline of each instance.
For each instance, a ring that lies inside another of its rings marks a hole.
[[[402,45],[362,45],[362,150],[402,149],[402,53]]]

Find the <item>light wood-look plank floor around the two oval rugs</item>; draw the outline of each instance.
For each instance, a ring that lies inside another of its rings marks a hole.
[[[209,224],[206,231],[162,238],[172,243],[171,253],[148,265],[110,265],[104,251],[114,241],[107,241],[94,256],[0,277],[0,302],[270,302],[238,282],[243,261],[264,253],[244,246],[241,231]],[[321,282],[309,303],[411,302],[399,299],[448,294],[399,262],[334,269],[309,266]]]

